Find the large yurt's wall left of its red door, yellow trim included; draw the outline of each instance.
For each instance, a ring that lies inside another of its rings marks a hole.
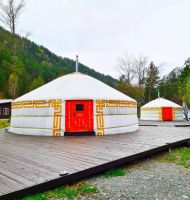
[[[33,100],[12,103],[10,131],[26,135],[64,135],[65,103],[62,100]]]

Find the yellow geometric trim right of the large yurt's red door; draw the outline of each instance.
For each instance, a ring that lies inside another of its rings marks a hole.
[[[137,108],[135,101],[96,100],[97,135],[104,135],[104,108]]]

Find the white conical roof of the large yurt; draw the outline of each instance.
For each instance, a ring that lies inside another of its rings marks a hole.
[[[135,101],[101,81],[79,72],[59,77],[14,101],[35,99],[102,99]]]

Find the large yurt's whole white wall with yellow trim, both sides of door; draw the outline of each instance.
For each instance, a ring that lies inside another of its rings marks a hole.
[[[12,103],[10,131],[17,134],[63,136],[63,100],[33,100]],[[97,135],[131,132],[138,128],[135,101],[94,101],[94,127]]]

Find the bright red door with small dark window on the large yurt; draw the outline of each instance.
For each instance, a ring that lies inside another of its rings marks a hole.
[[[65,105],[65,132],[90,132],[94,129],[93,101],[68,100]]]

